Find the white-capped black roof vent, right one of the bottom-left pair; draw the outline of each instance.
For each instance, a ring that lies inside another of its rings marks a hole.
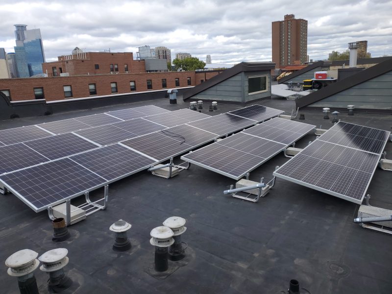
[[[45,252],[38,258],[43,263],[40,270],[49,273],[49,293],[61,293],[72,286],[72,280],[63,270],[69,262],[67,254],[66,248],[56,248]]]

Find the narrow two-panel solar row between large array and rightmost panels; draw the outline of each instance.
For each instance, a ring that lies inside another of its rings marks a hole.
[[[181,158],[233,179],[240,179],[316,126],[273,118]]]

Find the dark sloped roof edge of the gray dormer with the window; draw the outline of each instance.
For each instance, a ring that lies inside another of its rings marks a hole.
[[[183,100],[191,98],[196,94],[212,87],[220,82],[242,72],[259,72],[259,71],[270,71],[275,69],[275,63],[273,62],[241,62],[224,72],[215,75],[214,77],[206,80],[204,83],[197,85],[186,91],[183,95]]]

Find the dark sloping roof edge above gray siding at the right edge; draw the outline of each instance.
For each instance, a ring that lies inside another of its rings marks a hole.
[[[360,71],[354,75],[346,77],[345,79],[322,88],[317,92],[311,93],[295,101],[296,107],[302,108],[314,102],[330,97],[336,93],[342,92],[355,85],[361,84],[373,77],[379,76],[383,73],[392,71],[392,58],[385,60],[375,66],[366,70]]]

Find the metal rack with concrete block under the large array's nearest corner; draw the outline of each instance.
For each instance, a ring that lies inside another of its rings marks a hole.
[[[54,221],[57,218],[64,218],[66,225],[69,226],[78,221],[84,220],[87,216],[97,212],[98,210],[105,210],[109,197],[109,185],[104,186],[104,196],[97,201],[91,201],[89,192],[84,193],[86,202],[79,206],[71,205],[71,199],[67,199],[65,203],[48,206],[49,219]],[[103,201],[103,204],[98,204]]]

